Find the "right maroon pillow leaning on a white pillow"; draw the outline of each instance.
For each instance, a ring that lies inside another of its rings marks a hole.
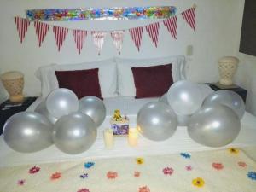
[[[172,64],[131,67],[136,87],[135,98],[162,96],[173,84]]]

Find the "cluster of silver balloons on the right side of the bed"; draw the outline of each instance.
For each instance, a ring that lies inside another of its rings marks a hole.
[[[183,80],[172,84],[159,102],[143,106],[137,125],[144,137],[154,141],[171,137],[177,125],[187,125],[195,142],[221,147],[238,136],[244,113],[244,102],[235,92],[218,90],[204,99],[198,84]]]

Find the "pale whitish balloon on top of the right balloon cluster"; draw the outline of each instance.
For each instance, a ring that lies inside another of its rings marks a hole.
[[[172,84],[167,100],[177,115],[189,115],[201,108],[203,96],[197,84],[182,80]]]

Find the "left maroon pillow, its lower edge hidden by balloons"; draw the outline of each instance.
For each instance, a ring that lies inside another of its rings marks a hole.
[[[67,88],[82,98],[84,96],[97,96],[102,98],[98,78],[98,68],[78,71],[55,71],[60,88]]]

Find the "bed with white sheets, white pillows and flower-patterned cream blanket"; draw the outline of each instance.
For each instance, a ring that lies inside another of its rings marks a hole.
[[[185,79],[183,56],[141,60],[137,61],[137,66],[171,61],[173,82]],[[111,62],[122,63],[122,66],[111,67]],[[119,136],[114,138],[113,149],[104,147],[103,130],[110,126],[114,109],[127,115],[130,126],[135,127],[138,110],[148,102],[159,100],[158,96],[134,98],[137,92],[134,84],[130,84],[133,81],[131,73],[125,73],[131,63],[134,65],[135,61],[115,59],[96,62],[89,67],[98,65],[100,73],[101,67],[103,71],[108,67],[113,76],[99,74],[101,89],[104,86],[101,92],[107,117],[97,130],[96,142],[84,153],[64,154],[52,145],[36,153],[21,154],[10,149],[1,136],[0,191],[255,191],[256,118],[247,112],[241,119],[239,136],[223,148],[195,143],[185,126],[178,126],[166,141],[154,142],[140,135],[137,147],[132,148],[127,137]],[[84,64],[41,68],[37,76],[43,82],[42,96],[27,110],[33,111],[49,91],[58,86],[55,70],[81,67],[84,68]],[[114,76],[116,73],[119,75]],[[213,91],[206,84],[199,86],[203,96]]]

